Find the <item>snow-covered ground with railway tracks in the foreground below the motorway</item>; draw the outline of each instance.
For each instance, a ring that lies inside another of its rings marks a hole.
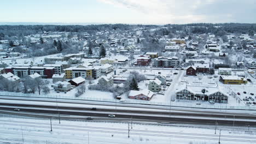
[[[0,143],[255,143],[254,131],[0,116]],[[129,127],[129,129],[128,129]],[[130,133],[128,134],[128,131]],[[221,131],[220,131],[221,130]],[[128,135],[130,137],[128,137]]]

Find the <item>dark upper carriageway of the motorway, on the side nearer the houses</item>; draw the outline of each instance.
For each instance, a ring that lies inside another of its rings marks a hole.
[[[56,110],[76,110],[76,111],[94,111],[91,110],[91,108],[85,108],[85,107],[67,107],[67,106],[46,106],[46,105],[28,105],[28,104],[6,104],[6,103],[0,103],[1,105],[5,106],[16,106],[16,107],[28,107],[28,108],[46,108],[46,109],[56,109]],[[234,118],[234,115],[220,115],[220,114],[206,114],[206,113],[187,113],[187,112],[160,112],[160,111],[138,111],[138,110],[115,110],[115,109],[97,109],[97,111],[102,112],[123,112],[123,113],[141,113],[141,114],[151,114],[151,115],[170,115],[170,116],[195,116],[195,117],[217,117],[217,118]],[[241,119],[256,119],[256,116],[240,116],[235,115],[236,118]]]

